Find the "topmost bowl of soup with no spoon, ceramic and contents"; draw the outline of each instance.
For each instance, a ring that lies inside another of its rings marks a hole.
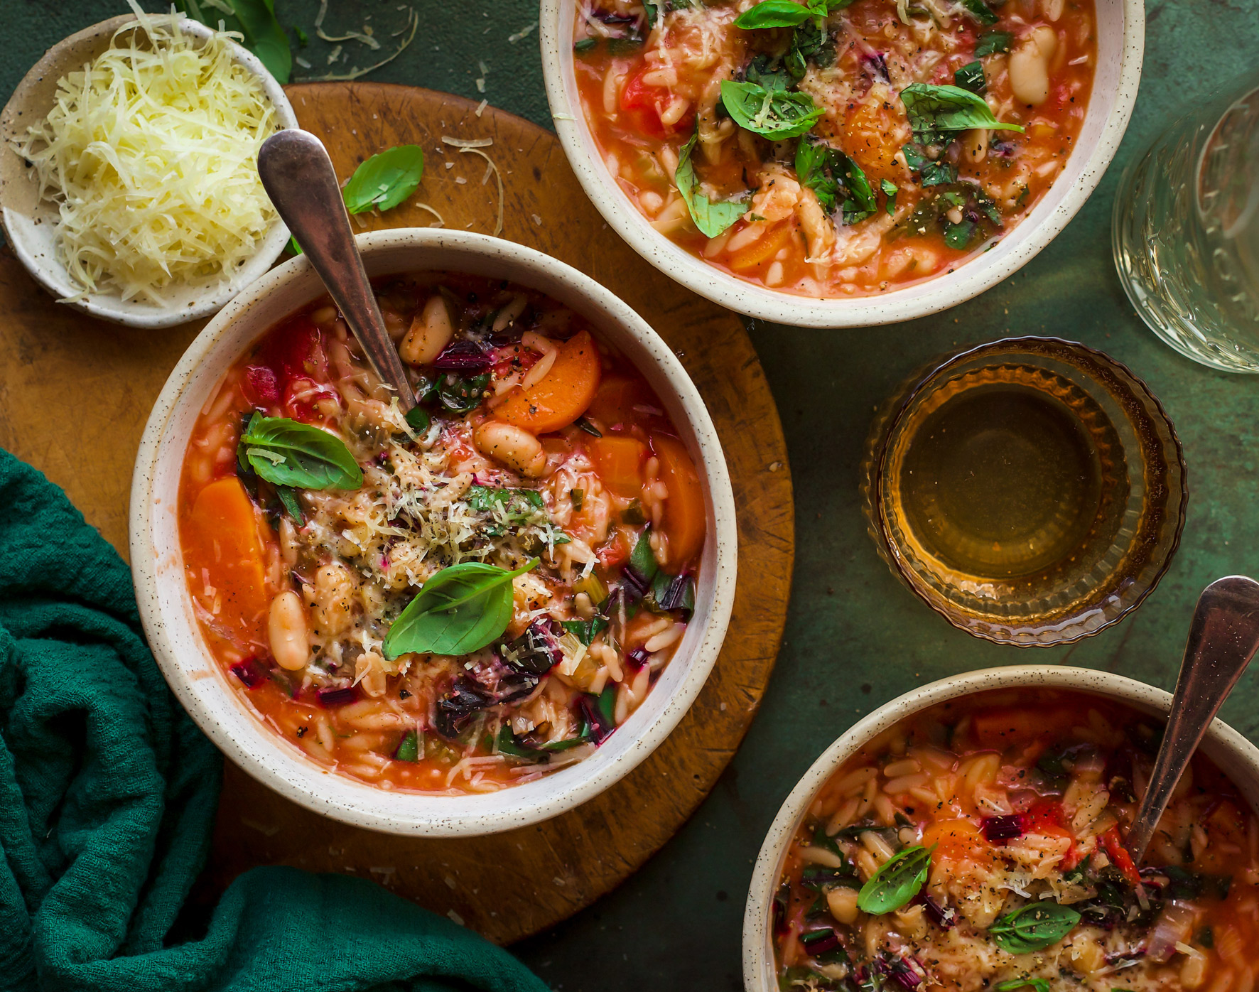
[[[555,130],[648,262],[764,320],[968,300],[1066,225],[1123,137],[1139,0],[544,0]]]

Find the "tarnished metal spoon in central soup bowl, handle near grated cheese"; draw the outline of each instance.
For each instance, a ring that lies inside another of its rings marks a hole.
[[[405,413],[415,405],[415,394],[398,349],[385,331],[324,142],[308,131],[278,131],[258,150],[258,175],[281,219],[363,345],[371,368],[394,390]]]

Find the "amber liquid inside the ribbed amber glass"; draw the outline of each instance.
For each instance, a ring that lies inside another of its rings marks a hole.
[[[954,380],[906,424],[891,481],[906,530],[946,568],[977,579],[1045,577],[1103,533],[1113,536],[1113,473],[1103,465],[1113,427],[1054,379],[990,369]]]

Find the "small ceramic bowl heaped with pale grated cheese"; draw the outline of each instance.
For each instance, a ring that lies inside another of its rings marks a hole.
[[[288,230],[258,146],[297,118],[230,35],[126,14],[54,45],[0,113],[0,217],[49,292],[92,316],[209,316],[279,257]]]

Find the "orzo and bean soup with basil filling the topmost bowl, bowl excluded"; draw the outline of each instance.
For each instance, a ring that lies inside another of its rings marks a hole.
[[[1093,0],[578,0],[585,120],[662,234],[749,282],[869,295],[952,271],[1058,178]]]

